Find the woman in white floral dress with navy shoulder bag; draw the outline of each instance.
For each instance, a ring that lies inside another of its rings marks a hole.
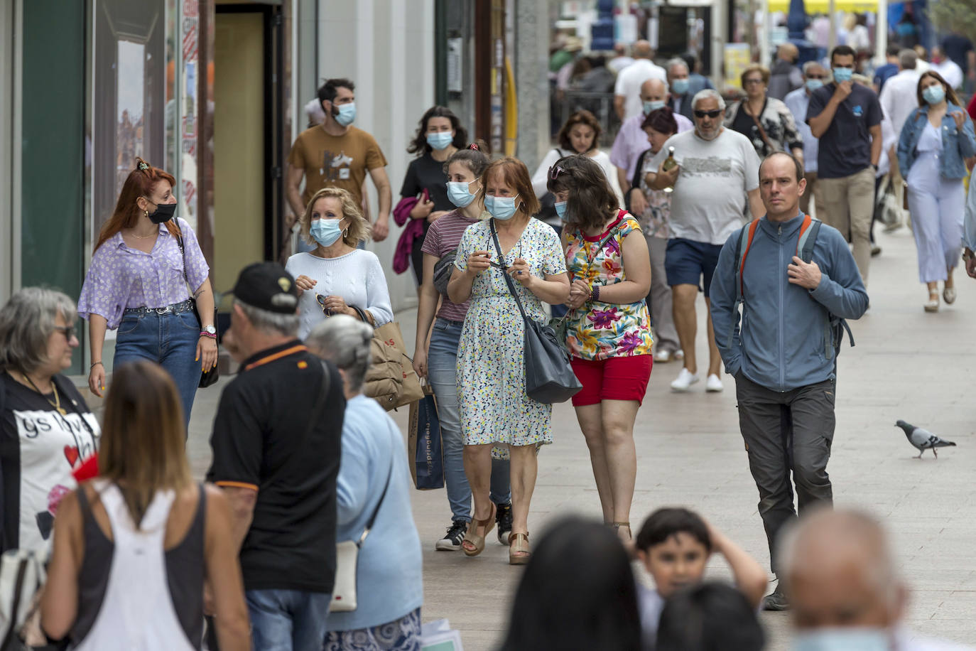
[[[503,274],[514,281],[526,315],[539,321],[546,318],[542,302],[566,301],[569,279],[555,231],[532,217],[539,200],[524,163],[504,158],[489,165],[481,176],[479,198],[492,219],[465,230],[447,288],[453,303],[470,300],[458,347],[458,403],[474,513],[462,549],[468,556],[481,553],[495,524],[489,498],[492,448],[505,444],[511,460],[508,562],[522,565],[530,554],[528,514],[536,453],[552,442],[551,406],[525,392],[525,324]]]

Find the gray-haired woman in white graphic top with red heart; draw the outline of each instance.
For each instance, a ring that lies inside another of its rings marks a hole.
[[[74,302],[27,287],[0,309],[2,549],[45,549],[71,471],[95,454],[101,428],[61,373],[78,347]]]

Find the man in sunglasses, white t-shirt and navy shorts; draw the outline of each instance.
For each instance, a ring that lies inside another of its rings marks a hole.
[[[685,391],[700,379],[695,356],[695,300],[704,276],[705,305],[709,308],[706,389],[720,391],[722,360],[715,346],[709,300],[712,273],[725,240],[742,226],[747,204],[753,218],[762,217],[766,211],[759,196],[759,157],[748,138],[722,127],[725,101],[708,89],[699,92],[691,106],[695,130],[676,134],[665,142],[651,162],[658,172],[650,174],[649,181],[654,189],[674,188],[665,270],[684,367],[671,389]],[[671,147],[677,166],[665,171]]]

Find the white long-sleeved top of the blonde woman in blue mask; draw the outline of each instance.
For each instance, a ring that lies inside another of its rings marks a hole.
[[[393,320],[383,265],[372,251],[356,249],[345,256],[331,259],[297,253],[288,259],[285,270],[295,278],[305,275],[318,283],[303,292],[299,299],[301,340],[305,340],[315,324],[325,319],[316,294],[341,296],[346,305],[355,305],[370,312],[377,327]]]

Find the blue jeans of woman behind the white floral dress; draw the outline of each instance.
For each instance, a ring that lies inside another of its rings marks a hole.
[[[427,379],[437,398],[437,418],[443,446],[444,483],[454,520],[471,521],[471,487],[465,474],[465,437],[458,411],[458,344],[463,324],[438,318],[430,333],[427,347]],[[511,502],[508,486],[508,461],[493,459],[491,466],[491,501]]]

